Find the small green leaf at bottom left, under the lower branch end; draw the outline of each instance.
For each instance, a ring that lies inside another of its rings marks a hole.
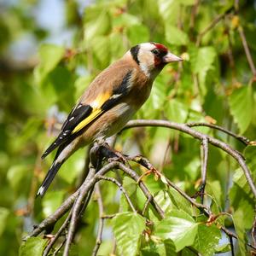
[[[19,256],[41,256],[46,244],[47,240],[40,237],[30,237],[20,246]]]

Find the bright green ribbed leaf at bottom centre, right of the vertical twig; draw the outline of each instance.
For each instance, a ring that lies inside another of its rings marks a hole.
[[[122,212],[113,218],[112,224],[119,254],[137,255],[145,219],[135,212]]]

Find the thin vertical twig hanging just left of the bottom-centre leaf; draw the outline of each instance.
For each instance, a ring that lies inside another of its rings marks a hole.
[[[96,190],[97,203],[98,203],[98,207],[99,207],[99,225],[98,225],[98,230],[97,230],[96,245],[92,252],[93,256],[96,256],[96,254],[98,253],[98,250],[102,244],[102,231],[103,231],[103,226],[104,226],[104,218],[102,218],[102,216],[104,214],[104,207],[103,207],[103,201],[102,201],[102,192],[101,192],[99,183],[96,183],[95,190]]]

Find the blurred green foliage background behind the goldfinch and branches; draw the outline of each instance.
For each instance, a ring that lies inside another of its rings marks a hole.
[[[211,122],[255,139],[256,73],[241,40],[242,32],[255,60],[255,6],[256,2],[249,0],[240,1],[238,6],[231,0],[2,0],[0,254],[17,255],[21,239],[32,225],[54,212],[76,188],[83,172],[84,149],[61,167],[44,199],[35,200],[38,185],[53,160],[49,156],[41,162],[40,156],[84,88],[134,44],[166,44],[184,59],[166,67],[156,79],[137,118]],[[199,131],[245,150],[221,132],[208,128]],[[198,189],[200,143],[191,137],[163,128],[140,128],[125,131],[116,148],[125,154],[144,154],[189,195]],[[253,146],[243,152],[256,174]],[[148,177],[150,182],[153,179]],[[118,212],[116,187],[108,184],[102,191],[106,213]],[[234,221],[237,216],[241,236],[252,227],[253,196],[241,169],[212,147],[207,194],[214,199],[217,213],[234,213]],[[92,201],[88,210],[77,237],[77,250],[83,255],[91,253],[96,241],[96,203]],[[225,222],[234,229],[229,218]],[[99,254],[108,255],[113,245],[110,221],[103,239]],[[244,242],[247,237],[241,239]],[[212,255],[214,250],[224,252],[227,243],[223,236],[203,255]],[[147,249],[143,255],[149,255]]]

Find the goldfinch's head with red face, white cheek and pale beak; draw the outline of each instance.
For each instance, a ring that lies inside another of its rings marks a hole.
[[[165,45],[153,42],[137,44],[128,51],[128,54],[150,79],[154,79],[166,64],[183,61],[182,58],[173,55]]]

